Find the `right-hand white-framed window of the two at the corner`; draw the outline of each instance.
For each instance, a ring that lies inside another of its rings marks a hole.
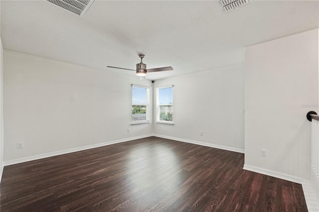
[[[157,122],[173,123],[173,86],[156,89]]]

